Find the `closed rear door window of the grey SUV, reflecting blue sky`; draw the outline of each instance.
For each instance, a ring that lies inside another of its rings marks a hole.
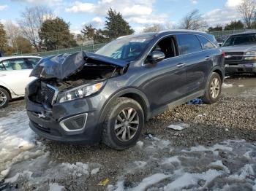
[[[193,34],[178,34],[176,35],[176,38],[178,40],[178,49],[181,55],[199,52],[202,50],[197,36]]]

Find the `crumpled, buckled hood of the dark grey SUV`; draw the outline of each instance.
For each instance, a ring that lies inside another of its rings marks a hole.
[[[110,64],[121,67],[127,66],[126,61],[81,51],[73,54],[66,53],[42,58],[31,71],[30,77],[64,79],[74,74],[76,71],[83,69],[86,63]]]

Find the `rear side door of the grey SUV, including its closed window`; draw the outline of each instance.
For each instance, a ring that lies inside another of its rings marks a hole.
[[[176,39],[187,69],[187,95],[199,93],[205,88],[211,54],[203,51],[200,40],[195,34],[178,34]]]

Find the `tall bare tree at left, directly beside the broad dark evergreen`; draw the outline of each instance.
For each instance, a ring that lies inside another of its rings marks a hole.
[[[53,11],[45,6],[26,7],[21,13],[22,19],[19,21],[23,35],[29,39],[37,52],[41,51],[42,39],[39,37],[39,31],[44,20],[52,19]]]

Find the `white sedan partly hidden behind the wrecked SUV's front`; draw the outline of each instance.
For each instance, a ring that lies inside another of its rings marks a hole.
[[[0,57],[0,108],[12,98],[25,95],[25,87],[34,77],[31,70],[41,58],[38,56]]]

